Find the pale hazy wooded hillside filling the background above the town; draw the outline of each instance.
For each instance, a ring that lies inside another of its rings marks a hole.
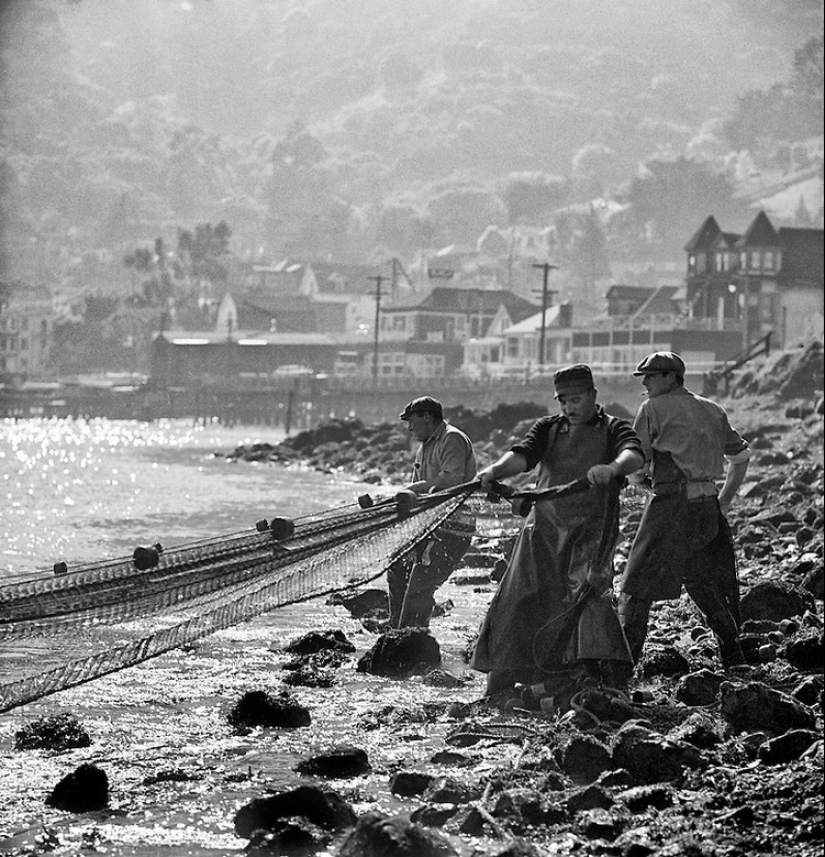
[[[0,270],[59,279],[219,220],[241,254],[358,261],[547,224],[651,160],[767,175],[777,143],[810,158],[821,82],[744,161],[727,123],[822,20],[818,0],[6,0]]]

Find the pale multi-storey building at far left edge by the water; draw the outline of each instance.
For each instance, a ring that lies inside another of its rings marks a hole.
[[[55,314],[45,286],[0,282],[0,377],[43,374]]]

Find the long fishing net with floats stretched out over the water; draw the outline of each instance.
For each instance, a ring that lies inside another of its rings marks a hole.
[[[277,607],[363,586],[448,520],[455,525],[462,507],[485,519],[491,504],[471,496],[474,487],[427,495],[403,513],[387,500],[296,518],[282,533],[273,521],[163,550],[149,568],[129,557],[2,586],[0,711]]]

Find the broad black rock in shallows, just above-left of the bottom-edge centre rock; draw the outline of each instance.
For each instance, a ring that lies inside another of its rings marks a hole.
[[[256,830],[277,830],[289,818],[304,818],[333,831],[352,827],[356,820],[352,807],[332,789],[299,786],[242,806],[235,813],[235,833],[249,839]]]

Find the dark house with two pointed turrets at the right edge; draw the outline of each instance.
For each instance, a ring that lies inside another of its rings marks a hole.
[[[743,349],[822,338],[822,248],[821,229],[776,230],[764,211],[742,235],[709,216],[685,245],[689,312],[739,329]]]

